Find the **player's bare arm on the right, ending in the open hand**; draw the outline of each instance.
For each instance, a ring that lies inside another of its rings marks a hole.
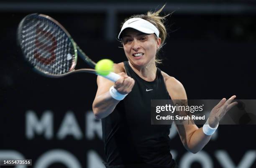
[[[183,85],[174,77],[168,76],[164,73],[166,88],[172,99],[187,99],[186,91]],[[221,118],[226,114],[226,112],[236,105],[236,102],[232,102],[236,96],[230,97],[226,100],[223,98],[211,111],[209,117],[210,127],[216,127]],[[192,121],[193,122],[193,121]],[[202,127],[198,128],[197,125],[176,125],[180,139],[184,147],[192,153],[197,153],[209,142],[211,135],[206,135]]]

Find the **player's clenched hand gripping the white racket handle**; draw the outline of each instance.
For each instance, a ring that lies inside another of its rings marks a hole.
[[[115,81],[114,88],[120,93],[120,94],[128,94],[131,92],[134,86],[134,79],[132,79],[130,76],[126,75],[124,72],[119,73],[121,76],[120,79]]]

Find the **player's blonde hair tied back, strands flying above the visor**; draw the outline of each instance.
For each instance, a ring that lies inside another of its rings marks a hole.
[[[148,11],[146,15],[144,15],[144,14],[133,15],[130,18],[126,18],[123,21],[123,23],[121,23],[121,28],[122,28],[123,24],[127,20],[129,20],[131,18],[142,18],[142,19],[147,20],[148,22],[152,23],[154,26],[156,26],[156,28],[159,30],[159,38],[161,38],[161,44],[159,46],[159,49],[156,51],[156,59],[155,59],[156,64],[161,64],[162,63],[162,59],[159,58],[157,53],[159,52],[161,47],[164,45],[164,41],[165,41],[166,36],[167,36],[167,31],[166,31],[164,22],[166,20],[166,17],[170,15],[170,14],[165,15],[165,16],[160,16],[159,15],[159,13],[164,9],[164,6],[162,6],[162,8],[157,10],[156,12]]]

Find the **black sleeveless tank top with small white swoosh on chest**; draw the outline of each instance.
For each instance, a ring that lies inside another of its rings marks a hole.
[[[151,99],[169,99],[161,70],[156,79],[145,81],[124,62],[135,80],[132,91],[114,111],[102,119],[107,168],[174,168],[170,153],[171,125],[151,125]],[[177,167],[175,167],[177,168]]]

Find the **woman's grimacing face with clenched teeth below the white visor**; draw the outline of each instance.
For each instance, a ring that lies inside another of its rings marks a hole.
[[[146,34],[133,28],[123,32],[123,48],[127,59],[135,66],[145,67],[155,62],[156,50],[159,48],[161,38],[154,34]]]

